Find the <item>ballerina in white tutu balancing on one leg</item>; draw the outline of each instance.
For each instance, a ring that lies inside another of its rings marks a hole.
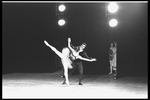
[[[53,47],[52,45],[50,45],[46,40],[44,40],[44,43],[50,47],[60,58],[61,58],[61,62],[63,65],[63,69],[64,69],[64,76],[65,76],[65,83],[67,83],[67,85],[69,86],[69,79],[68,79],[68,69],[72,69],[72,61],[70,59],[70,50],[67,47],[64,47],[62,49],[62,52],[58,51],[55,47]],[[71,57],[72,60],[75,60],[73,58],[73,56]],[[96,59],[86,59],[83,58],[81,56],[78,56],[76,59],[82,59],[82,60],[86,60],[86,61],[95,61]]]

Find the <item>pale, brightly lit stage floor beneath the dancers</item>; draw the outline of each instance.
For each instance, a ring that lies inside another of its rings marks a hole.
[[[2,98],[148,98],[147,77],[78,75],[69,78],[70,86],[61,85],[61,71],[55,73],[12,73],[2,76]]]

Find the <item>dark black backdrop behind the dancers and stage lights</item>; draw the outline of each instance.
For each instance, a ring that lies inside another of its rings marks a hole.
[[[72,44],[87,43],[85,51],[97,62],[83,62],[84,74],[108,74],[110,42],[118,43],[117,68],[122,76],[147,76],[147,3],[120,3],[118,26],[108,25],[105,3],[66,3],[59,26],[56,3],[2,4],[2,73],[51,73],[56,54],[44,44],[47,40],[61,50]],[[77,72],[77,71],[76,71]]]

